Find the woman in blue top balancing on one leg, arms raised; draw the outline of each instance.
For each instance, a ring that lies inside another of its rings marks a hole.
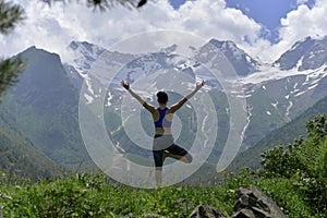
[[[184,162],[191,162],[192,156],[182,147],[174,144],[173,136],[171,134],[171,122],[173,113],[178,111],[197,90],[204,86],[205,82],[197,82],[195,89],[183,97],[177,104],[167,107],[168,95],[166,92],[157,93],[157,101],[159,107],[146,102],[140,95],[134,93],[130,84],[122,81],[121,85],[136,99],[138,100],[153,116],[155,123],[155,138],[153,145],[153,154],[156,167],[156,182],[158,186],[162,183],[162,166],[167,157],[179,159]]]

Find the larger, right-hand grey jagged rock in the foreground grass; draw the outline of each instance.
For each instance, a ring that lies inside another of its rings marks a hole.
[[[240,186],[237,192],[232,218],[283,218],[287,217],[275,202],[259,189]]]

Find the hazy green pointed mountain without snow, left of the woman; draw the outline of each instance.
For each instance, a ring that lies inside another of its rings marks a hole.
[[[35,47],[21,57],[26,68],[0,108],[11,112],[15,128],[51,160],[65,167],[89,162],[78,129],[78,90],[60,57]]]

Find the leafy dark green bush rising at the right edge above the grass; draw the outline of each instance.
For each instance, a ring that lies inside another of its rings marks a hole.
[[[306,124],[308,136],[299,137],[288,148],[277,146],[263,153],[261,171],[265,178],[291,179],[305,195],[312,213],[327,210],[327,117],[317,116]]]

